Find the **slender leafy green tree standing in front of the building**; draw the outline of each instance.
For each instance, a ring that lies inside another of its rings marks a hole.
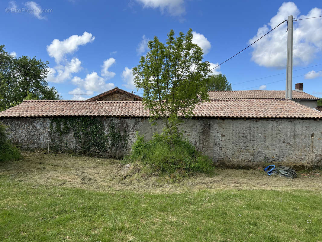
[[[174,138],[180,117],[190,117],[195,105],[209,100],[206,77],[210,64],[203,62],[202,49],[192,43],[191,29],[176,37],[171,30],[167,36],[166,44],[157,37],[148,42],[150,50],[133,68],[133,76],[137,88],[143,90],[150,120],[162,118],[166,134]]]

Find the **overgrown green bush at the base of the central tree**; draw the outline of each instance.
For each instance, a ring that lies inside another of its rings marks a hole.
[[[168,174],[176,171],[210,173],[212,161],[185,139],[177,137],[170,142],[164,135],[155,134],[147,142],[137,134],[130,156],[132,162],[142,162],[151,168]]]

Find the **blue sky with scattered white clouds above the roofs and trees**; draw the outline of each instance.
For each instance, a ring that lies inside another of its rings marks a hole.
[[[101,93],[114,86],[136,91],[131,68],[147,52],[149,39],[157,36],[165,41],[171,29],[186,33],[192,28],[195,43],[204,49],[204,60],[215,66],[288,15],[322,15],[321,0],[17,0],[0,5],[0,43],[12,55],[48,60],[49,85],[71,94]],[[233,90],[284,90],[286,74],[272,75],[285,72],[286,36],[284,23],[214,73],[225,74]],[[293,70],[313,67],[293,73],[293,89],[303,82],[305,92],[322,96],[321,50],[322,18],[294,22]],[[266,76],[272,77],[246,82]],[[237,84],[241,82],[246,83]]]

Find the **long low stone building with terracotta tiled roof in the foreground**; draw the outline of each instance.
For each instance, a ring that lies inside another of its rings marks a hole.
[[[322,165],[321,112],[285,98],[232,98],[236,93],[230,92],[219,99],[219,94],[197,105],[180,126],[214,164]],[[142,101],[25,100],[0,113],[8,137],[23,149],[47,148],[50,137],[51,150],[117,158],[129,153],[136,132],[150,139],[162,129],[161,119],[151,126],[148,117]]]

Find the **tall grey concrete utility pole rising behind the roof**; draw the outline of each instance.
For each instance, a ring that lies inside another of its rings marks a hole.
[[[287,65],[286,65],[286,92],[285,98],[292,99],[293,78],[293,15],[287,20]]]

